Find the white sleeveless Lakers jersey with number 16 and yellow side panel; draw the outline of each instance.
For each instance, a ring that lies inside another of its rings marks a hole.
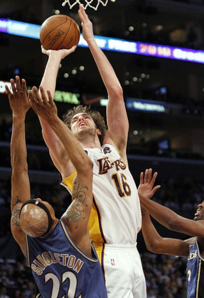
[[[89,219],[91,239],[98,243],[135,245],[141,228],[141,210],[134,178],[116,149],[84,149],[93,167],[93,208]],[[75,173],[61,184],[71,193]]]

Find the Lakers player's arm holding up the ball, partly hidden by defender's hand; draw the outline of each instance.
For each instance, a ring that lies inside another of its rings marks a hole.
[[[41,80],[41,85],[43,86],[44,90],[50,90],[52,98],[54,97],[55,93],[57,74],[59,71],[61,60],[74,52],[75,49],[76,46],[73,46],[71,49],[61,50],[45,50],[42,48],[42,52],[48,55],[48,61]],[[40,116],[39,121],[42,127],[42,135],[44,141],[49,148],[51,159],[57,170],[59,170],[59,172],[61,173],[62,177],[65,178],[74,171],[74,167],[69,160],[62,142],[59,140],[54,131]]]

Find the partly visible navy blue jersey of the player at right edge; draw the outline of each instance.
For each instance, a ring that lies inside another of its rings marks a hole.
[[[204,257],[197,241],[189,246],[187,263],[187,298],[204,298]]]

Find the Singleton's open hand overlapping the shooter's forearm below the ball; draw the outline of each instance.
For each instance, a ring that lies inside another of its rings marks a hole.
[[[34,86],[32,90],[28,91],[28,99],[34,110],[34,112],[41,116],[46,121],[54,121],[57,116],[57,107],[52,99],[52,95],[49,90],[47,90],[47,96],[44,92],[42,86],[40,88],[40,94],[37,88]]]

